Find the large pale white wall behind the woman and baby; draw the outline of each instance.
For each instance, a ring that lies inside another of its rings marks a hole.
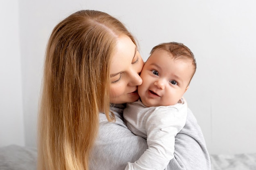
[[[25,144],[36,145],[37,103],[49,34],[60,20],[74,11],[96,9],[110,13],[126,24],[137,37],[144,60],[150,49],[161,42],[177,41],[189,46],[195,54],[198,70],[185,97],[202,128],[209,152],[256,152],[254,7],[254,0],[20,0],[18,23]],[[5,54],[19,55],[18,44],[16,47],[17,50],[12,51],[15,54]],[[1,63],[8,61],[1,57]],[[20,74],[19,64],[13,66],[10,63],[5,67],[11,67],[15,74],[3,75],[4,79]],[[20,81],[18,77],[17,80]],[[11,85],[13,82],[6,86]],[[19,82],[15,86],[21,88]],[[21,94],[20,91],[16,93]],[[0,96],[1,101],[5,98]],[[10,100],[5,102],[13,104]],[[22,114],[22,111],[7,111],[10,113],[5,118],[1,110],[1,120]]]

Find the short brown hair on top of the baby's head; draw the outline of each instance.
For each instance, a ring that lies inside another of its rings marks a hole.
[[[197,65],[196,65],[194,54],[187,46],[179,42],[165,42],[165,43],[158,44],[157,46],[154,46],[153,49],[150,51],[150,54],[152,54],[156,50],[165,50],[171,53],[175,60],[180,60],[180,59],[190,60],[194,68],[191,76],[191,79],[192,79],[192,77],[195,74]]]

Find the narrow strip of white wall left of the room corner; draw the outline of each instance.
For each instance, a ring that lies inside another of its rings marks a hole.
[[[18,0],[0,1],[0,21],[0,146],[24,146]]]

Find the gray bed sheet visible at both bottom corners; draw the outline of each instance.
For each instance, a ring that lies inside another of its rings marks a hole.
[[[0,148],[0,170],[36,170],[36,148],[10,145]],[[211,170],[256,170],[256,153],[210,155]]]

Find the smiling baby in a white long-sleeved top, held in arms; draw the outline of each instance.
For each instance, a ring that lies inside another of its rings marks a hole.
[[[128,128],[147,139],[148,149],[126,170],[164,170],[174,157],[175,136],[186,123],[187,103],[182,96],[196,70],[190,49],[181,43],[155,46],[142,71],[140,99],[127,104]]]

